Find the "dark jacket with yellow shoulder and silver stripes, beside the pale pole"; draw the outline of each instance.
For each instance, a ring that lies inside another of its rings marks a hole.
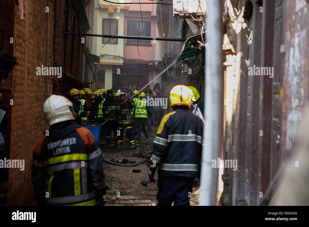
[[[150,162],[162,176],[200,177],[203,122],[192,112],[176,109],[165,115],[154,140]]]

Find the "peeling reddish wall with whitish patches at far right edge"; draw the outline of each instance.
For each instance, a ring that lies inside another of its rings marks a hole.
[[[297,122],[302,119],[302,112],[309,103],[309,18],[306,16],[309,5],[306,4],[296,12],[298,7],[301,5],[297,1],[286,0],[285,69],[281,94],[283,155],[292,152]]]

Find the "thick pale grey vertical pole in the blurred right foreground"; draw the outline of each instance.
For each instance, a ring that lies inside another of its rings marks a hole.
[[[220,157],[223,122],[222,73],[222,12],[221,1],[208,1],[207,51],[205,68],[205,126],[203,131],[201,166],[201,206],[215,206],[219,163],[212,168],[212,160]]]

